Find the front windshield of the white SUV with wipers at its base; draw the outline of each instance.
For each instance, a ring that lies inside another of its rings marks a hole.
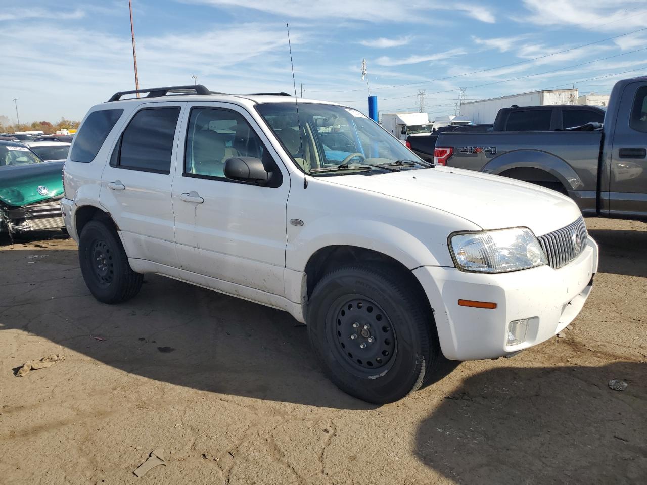
[[[364,114],[323,103],[259,103],[285,150],[311,175],[365,175],[428,167]]]

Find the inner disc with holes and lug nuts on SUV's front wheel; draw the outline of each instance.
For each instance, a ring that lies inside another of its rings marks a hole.
[[[367,298],[345,301],[336,313],[338,349],[363,369],[386,365],[395,350],[395,334],[384,310]]]

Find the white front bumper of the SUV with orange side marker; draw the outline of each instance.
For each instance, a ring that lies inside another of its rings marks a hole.
[[[477,360],[514,354],[558,334],[584,307],[597,268],[598,246],[589,236],[584,252],[558,270],[538,266],[477,274],[421,266],[413,274],[433,308],[444,356]],[[461,307],[459,299],[490,301],[497,307]],[[529,321],[525,340],[507,345],[508,323],[518,319]]]

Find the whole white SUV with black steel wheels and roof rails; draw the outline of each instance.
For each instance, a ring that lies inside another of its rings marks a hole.
[[[100,301],[157,273],[280,308],[336,385],[384,403],[441,352],[551,338],[589,296],[598,248],[568,197],[422,162],[334,103],[140,92],[92,107],[65,162],[65,224]]]

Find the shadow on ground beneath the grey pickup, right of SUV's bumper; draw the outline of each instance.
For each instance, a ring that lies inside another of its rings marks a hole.
[[[647,231],[590,230],[600,246],[600,273],[647,277]]]

